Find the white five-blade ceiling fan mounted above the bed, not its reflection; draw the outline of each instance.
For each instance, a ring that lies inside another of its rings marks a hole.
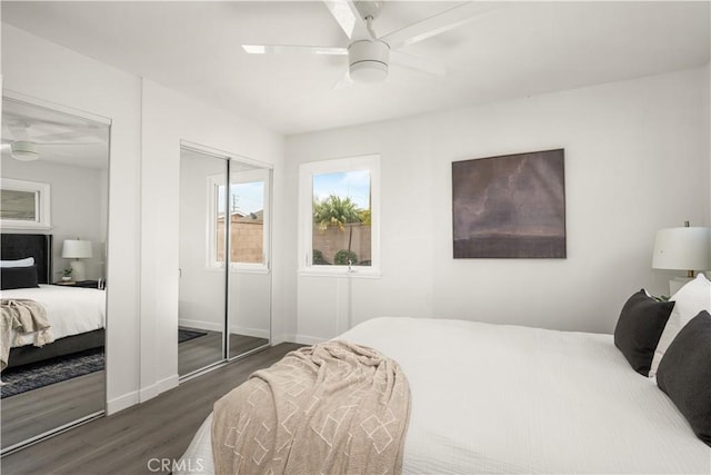
[[[248,53],[311,53],[348,56],[348,78],[358,82],[378,82],[388,77],[390,62],[418,71],[443,76],[445,69],[434,62],[398,51],[435,34],[450,31],[474,19],[487,7],[468,2],[417,23],[378,37],[372,22],[382,1],[324,0],[329,11],[348,36],[347,47],[242,44]]]

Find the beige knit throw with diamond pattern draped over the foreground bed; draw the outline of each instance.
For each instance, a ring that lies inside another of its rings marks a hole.
[[[218,474],[398,474],[410,414],[400,366],[327,342],[287,354],[214,404]]]

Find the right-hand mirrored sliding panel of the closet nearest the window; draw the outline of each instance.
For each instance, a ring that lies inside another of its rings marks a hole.
[[[269,345],[271,169],[230,160],[229,357]]]

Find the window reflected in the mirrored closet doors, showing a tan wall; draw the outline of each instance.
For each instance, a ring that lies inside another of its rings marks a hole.
[[[210,266],[224,265],[226,220],[230,222],[230,267],[266,270],[269,267],[269,170],[233,171],[229,205],[222,175],[210,177]],[[229,212],[226,209],[229,206]]]

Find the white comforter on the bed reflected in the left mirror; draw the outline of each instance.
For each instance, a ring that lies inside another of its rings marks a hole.
[[[47,310],[54,339],[79,335],[104,327],[106,293],[79,287],[62,287],[40,284],[39,288],[19,288],[2,290],[2,298],[29,298]],[[12,346],[31,345],[33,335],[10,336]]]

